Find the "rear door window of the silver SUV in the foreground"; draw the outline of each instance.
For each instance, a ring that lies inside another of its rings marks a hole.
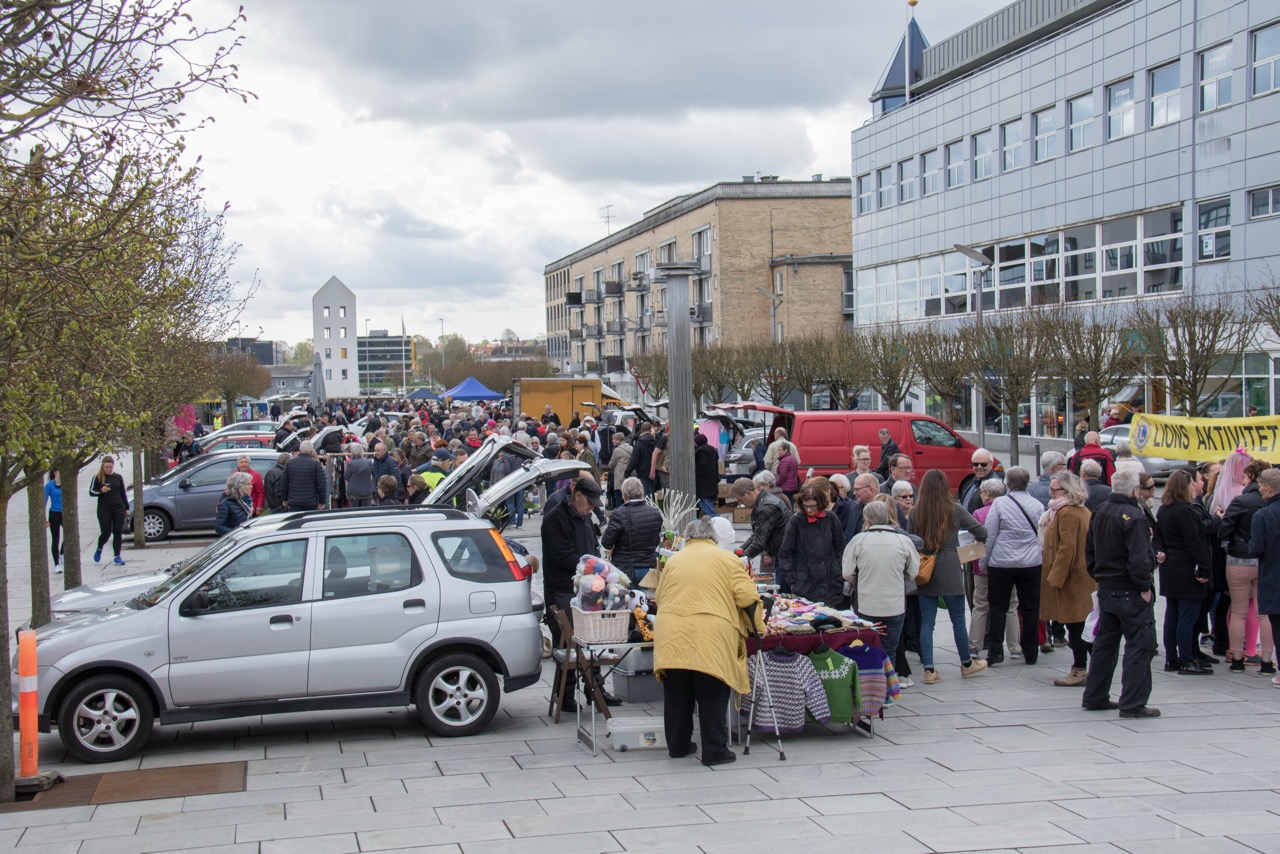
[[[324,542],[325,599],[371,593],[394,593],[422,583],[413,547],[401,534],[326,536]]]

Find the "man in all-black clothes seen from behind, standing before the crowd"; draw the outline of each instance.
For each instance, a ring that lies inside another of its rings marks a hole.
[[[1120,717],[1160,717],[1147,707],[1151,659],[1156,656],[1156,609],[1151,524],[1138,507],[1138,475],[1121,471],[1111,481],[1111,495],[1089,520],[1084,565],[1098,583],[1098,636],[1093,641],[1083,705],[1091,711],[1120,709]],[[1124,636],[1124,675],[1120,702],[1110,698],[1120,638]]]

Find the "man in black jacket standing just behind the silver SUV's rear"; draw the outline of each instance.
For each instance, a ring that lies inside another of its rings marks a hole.
[[[556,504],[543,516],[543,602],[547,604],[547,625],[552,630],[552,643],[561,645],[559,625],[550,617],[550,607],[556,606],[572,618],[570,607],[573,599],[573,576],[577,575],[577,562],[584,554],[598,554],[600,545],[595,539],[591,511],[600,502],[600,487],[590,478],[579,478],[566,501]],[[573,673],[576,677],[576,673]],[[559,684],[556,673],[553,685]],[[617,698],[605,694],[609,705],[618,705]],[[563,711],[577,711],[571,698],[564,699]]]

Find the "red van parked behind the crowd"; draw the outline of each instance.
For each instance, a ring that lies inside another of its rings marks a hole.
[[[846,474],[852,469],[855,444],[872,449],[872,460],[879,463],[879,430],[887,429],[899,451],[915,461],[919,474],[938,469],[947,476],[952,489],[973,471],[973,452],[977,446],[959,437],[946,424],[919,412],[877,410],[801,410],[791,411],[768,403],[733,403],[735,408],[768,412],[773,415],[765,435],[786,428],[791,443],[800,452],[803,471],[813,467],[815,475]],[[1000,461],[996,461],[1000,465]]]

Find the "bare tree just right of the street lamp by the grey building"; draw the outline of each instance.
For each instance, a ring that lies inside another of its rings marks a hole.
[[[1000,312],[970,338],[973,352],[969,367],[987,401],[1000,410],[1009,424],[1012,465],[1019,461],[1019,406],[1030,399],[1036,384],[1051,373],[1046,318],[1046,311],[1037,307]],[[979,412],[978,417],[984,415]]]

